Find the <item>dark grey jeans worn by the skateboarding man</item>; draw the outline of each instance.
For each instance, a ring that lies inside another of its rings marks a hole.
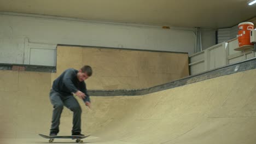
[[[51,121],[50,133],[59,133],[60,116],[63,106],[73,111],[73,128],[72,133],[81,133],[81,113],[82,109],[73,95],[61,95],[60,93],[51,89],[50,100],[53,104],[53,118]]]

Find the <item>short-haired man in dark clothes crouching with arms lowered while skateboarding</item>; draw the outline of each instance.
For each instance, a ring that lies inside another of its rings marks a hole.
[[[79,70],[73,68],[67,69],[54,80],[53,87],[50,90],[50,101],[54,107],[50,136],[56,136],[59,133],[60,116],[63,106],[73,111],[72,135],[84,136],[81,134],[82,109],[73,94],[83,99],[85,105],[91,108],[90,97],[84,82],[84,80],[88,79],[91,75],[91,67],[84,65],[84,67]]]

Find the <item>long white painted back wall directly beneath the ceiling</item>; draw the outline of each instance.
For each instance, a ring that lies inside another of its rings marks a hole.
[[[29,43],[43,45],[42,49],[46,49],[47,52],[35,50],[40,49],[38,47],[28,47],[26,40]],[[193,28],[162,29],[156,26],[136,24],[131,26],[127,23],[0,12],[0,63],[37,64],[35,62],[38,59],[35,58],[39,57],[40,53],[45,53],[43,56],[45,59],[42,59],[43,62],[40,64],[54,65],[53,62],[47,62],[47,59],[54,59],[53,55],[49,54],[49,50],[52,50],[56,44],[192,54],[195,34]],[[48,45],[50,45],[49,49]],[[31,59],[35,60],[31,61]]]

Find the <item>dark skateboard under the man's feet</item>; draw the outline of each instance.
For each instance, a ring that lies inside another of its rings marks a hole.
[[[39,134],[40,136],[44,137],[45,139],[49,139],[49,142],[53,142],[54,139],[76,139],[75,142],[83,142],[82,139],[90,136],[90,135],[86,135],[86,136],[80,136],[80,135],[68,135],[68,136],[48,136],[48,135],[43,135],[43,134]]]

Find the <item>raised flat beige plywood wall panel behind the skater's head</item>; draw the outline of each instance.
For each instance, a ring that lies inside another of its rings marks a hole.
[[[57,73],[91,65],[88,89],[148,88],[189,75],[188,54],[57,46]]]

